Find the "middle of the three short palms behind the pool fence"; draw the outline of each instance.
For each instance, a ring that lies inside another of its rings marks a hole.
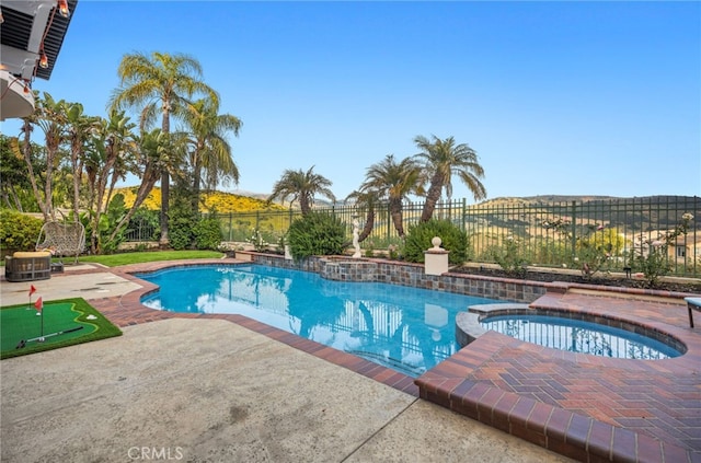
[[[388,154],[377,164],[368,167],[361,192],[372,192],[380,199],[389,201],[392,223],[400,238],[404,238],[402,223],[402,201],[413,193],[423,193],[421,187],[421,167],[413,159],[406,158],[401,162],[394,160],[394,154]]]

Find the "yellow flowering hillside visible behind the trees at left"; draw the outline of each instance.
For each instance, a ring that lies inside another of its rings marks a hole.
[[[136,187],[117,188],[115,193],[124,195],[126,207],[131,207],[136,199]],[[202,212],[208,212],[216,209],[217,212],[250,212],[254,210],[287,210],[287,208],[268,204],[262,199],[251,198],[248,196],[234,195],[232,193],[215,192],[203,194],[205,202],[200,207]],[[143,206],[148,209],[158,210],[161,207],[161,189],[156,187],[143,201]]]

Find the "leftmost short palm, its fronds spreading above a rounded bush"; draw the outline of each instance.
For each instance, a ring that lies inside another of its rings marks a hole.
[[[273,186],[273,193],[268,196],[267,200],[272,201],[275,198],[285,199],[291,197],[290,205],[296,200],[299,200],[299,208],[302,211],[302,216],[311,211],[311,207],[314,204],[314,196],[322,195],[332,201],[336,200],[329,187],[331,181],[322,175],[313,172],[312,165],[309,171],[303,172],[286,170],[279,181],[275,182]]]

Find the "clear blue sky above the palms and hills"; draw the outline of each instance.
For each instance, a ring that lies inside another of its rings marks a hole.
[[[34,89],[104,116],[122,57],[154,50],[242,119],[243,190],[314,165],[344,198],[436,135],[478,152],[489,198],[701,195],[699,2],[80,0]]]

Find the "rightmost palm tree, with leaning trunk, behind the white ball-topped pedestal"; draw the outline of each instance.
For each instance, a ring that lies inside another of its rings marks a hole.
[[[414,143],[422,150],[415,158],[430,176],[426,202],[424,202],[424,210],[421,215],[422,222],[426,222],[433,217],[444,188],[448,201],[450,201],[453,175],[458,175],[462,183],[470,188],[475,200],[486,198],[486,189],[480,182],[480,178],[484,176],[484,170],[478,162],[476,152],[466,143],[456,146],[453,137],[448,137],[445,140],[435,135],[432,137],[433,141],[422,136],[414,138]]]

